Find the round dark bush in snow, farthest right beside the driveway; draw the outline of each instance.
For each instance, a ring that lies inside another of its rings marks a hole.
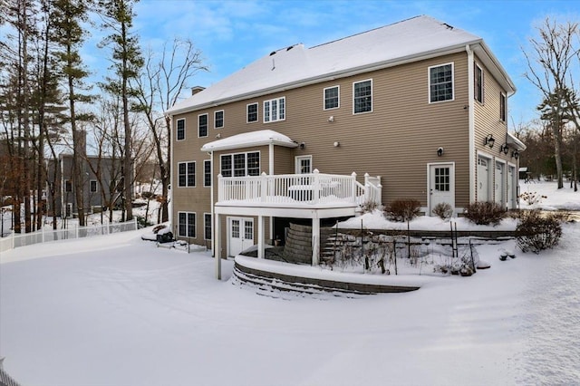
[[[556,246],[562,236],[562,219],[557,213],[542,216],[539,210],[522,211],[516,227],[517,246],[535,254]]]

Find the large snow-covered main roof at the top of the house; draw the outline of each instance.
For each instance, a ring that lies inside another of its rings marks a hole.
[[[166,113],[175,115],[196,111],[225,102],[465,51],[468,44],[489,71],[499,78],[508,94],[514,92],[513,82],[480,37],[421,15],[311,48],[299,43],[275,51],[176,103]]]

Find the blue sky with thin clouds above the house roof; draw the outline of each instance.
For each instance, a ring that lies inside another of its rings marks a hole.
[[[158,48],[174,36],[196,44],[210,72],[199,73],[191,85],[205,87],[278,48],[311,47],[428,14],[488,43],[517,86],[509,100],[511,126],[536,118],[540,101],[522,75],[521,47],[547,15],[579,21],[580,1],[141,0],[135,12],[144,47]]]

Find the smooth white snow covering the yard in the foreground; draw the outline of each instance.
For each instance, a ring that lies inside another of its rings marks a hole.
[[[535,184],[542,206],[580,193]],[[522,186],[525,191],[526,186]],[[24,385],[580,384],[580,224],[539,256],[357,299],[260,296],[146,230],[0,257],[0,356]]]

